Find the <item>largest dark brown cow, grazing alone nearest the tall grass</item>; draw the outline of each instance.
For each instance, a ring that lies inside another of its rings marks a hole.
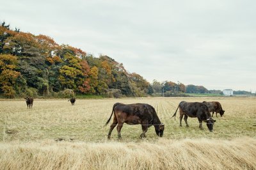
[[[110,139],[111,132],[113,128],[116,127],[118,132],[118,139],[122,139],[121,137],[121,128],[124,123],[128,125],[138,125],[141,124],[142,134],[141,138],[146,137],[146,132],[148,127],[154,125],[156,134],[160,137],[163,137],[164,132],[164,124],[159,120],[156,110],[154,107],[148,104],[120,104],[116,103],[113,105],[112,113],[109,120],[106,122],[108,125],[111,117],[114,113],[113,123],[110,125],[110,129],[108,132],[108,139]],[[106,127],[104,125],[104,127]]]

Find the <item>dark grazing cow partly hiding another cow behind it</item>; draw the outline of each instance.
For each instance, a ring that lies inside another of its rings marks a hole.
[[[191,118],[197,118],[199,121],[199,128],[203,129],[202,127],[202,121],[205,121],[207,123],[207,127],[209,128],[210,132],[212,132],[214,122],[216,120],[213,120],[211,117],[211,113],[209,112],[209,109],[206,104],[199,103],[199,102],[180,102],[179,106],[177,107],[175,113],[173,116],[176,116],[176,112],[179,109],[180,111],[180,127],[182,118],[184,116],[184,121],[186,123],[186,126],[188,125],[188,116]],[[172,118],[173,118],[172,116]],[[174,117],[175,118],[175,117]]]

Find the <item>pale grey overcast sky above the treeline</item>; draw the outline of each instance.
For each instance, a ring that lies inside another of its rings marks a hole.
[[[256,91],[256,1],[1,1],[0,21],[147,81]]]

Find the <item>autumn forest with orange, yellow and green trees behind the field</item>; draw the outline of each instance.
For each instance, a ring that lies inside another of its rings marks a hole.
[[[172,96],[207,93],[204,86],[172,81],[148,82],[138,73],[125,70],[109,56],[95,57],[81,49],[54,42],[45,35],[24,33],[0,26],[0,96],[101,97]],[[220,93],[220,91],[218,91]]]

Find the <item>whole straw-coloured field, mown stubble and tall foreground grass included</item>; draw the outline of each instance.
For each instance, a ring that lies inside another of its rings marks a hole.
[[[213,132],[196,118],[179,127],[179,114],[171,117],[182,100],[218,101],[225,114],[214,114]],[[155,107],[164,136],[150,127],[140,139],[141,126],[125,124],[121,141],[116,128],[108,140],[104,124],[116,102]],[[78,99],[73,106],[35,99],[33,109],[1,100],[0,108],[0,169],[256,169],[256,98]]]

